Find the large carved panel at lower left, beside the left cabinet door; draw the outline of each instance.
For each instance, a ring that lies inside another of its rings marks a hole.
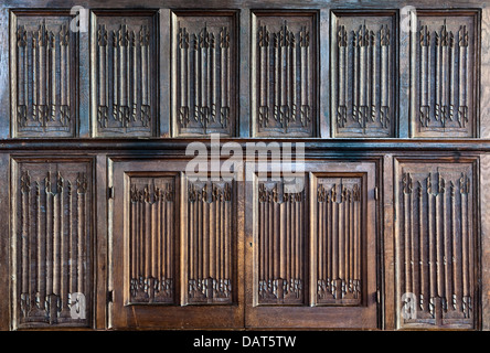
[[[17,324],[19,328],[89,325],[90,164],[21,161],[14,175]]]

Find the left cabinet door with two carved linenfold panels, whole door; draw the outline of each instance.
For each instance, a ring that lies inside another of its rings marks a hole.
[[[183,160],[109,165],[109,325],[238,328],[235,182],[188,178]]]

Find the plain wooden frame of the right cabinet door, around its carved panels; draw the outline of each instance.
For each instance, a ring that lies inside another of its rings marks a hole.
[[[270,168],[270,167],[269,167]],[[246,167],[246,169],[254,170],[253,165]],[[269,170],[270,172],[270,170]],[[379,327],[379,306],[377,301],[377,226],[376,214],[377,206],[375,202],[375,188],[376,188],[376,167],[373,162],[340,162],[340,161],[321,161],[313,162],[308,161],[306,163],[306,172],[308,182],[306,184],[315,184],[315,176],[321,175],[362,175],[363,188],[365,190],[365,207],[363,208],[365,217],[365,239],[364,255],[366,258],[364,267],[364,278],[368,284],[365,288],[365,296],[363,304],[360,307],[328,307],[318,306],[313,307],[315,302],[311,298],[311,272],[315,261],[308,255],[309,252],[315,252],[311,238],[313,237],[313,227],[307,227],[306,236],[307,249],[305,258],[308,259],[308,270],[305,275],[307,282],[310,284],[306,290],[306,300],[300,306],[262,306],[257,303],[256,293],[257,290],[257,258],[256,248],[257,244],[257,181],[258,176],[254,174],[253,181],[246,182],[246,211],[245,211],[245,291],[246,291],[246,307],[245,307],[245,327],[246,328],[259,328],[259,329],[376,329]],[[316,190],[315,190],[316,191]],[[306,190],[310,195],[306,214],[311,216],[311,193],[313,189]],[[315,258],[313,258],[315,259]],[[308,271],[310,274],[308,274]],[[286,310],[287,309],[287,310]],[[278,320],[280,318],[280,320]],[[342,318],[342,320],[339,320]]]

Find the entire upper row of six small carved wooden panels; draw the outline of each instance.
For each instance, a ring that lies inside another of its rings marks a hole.
[[[11,137],[479,137],[479,10],[247,11],[12,10]]]

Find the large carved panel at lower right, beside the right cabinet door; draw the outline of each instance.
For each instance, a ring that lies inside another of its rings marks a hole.
[[[472,165],[402,163],[396,276],[402,328],[473,328],[478,299]]]

